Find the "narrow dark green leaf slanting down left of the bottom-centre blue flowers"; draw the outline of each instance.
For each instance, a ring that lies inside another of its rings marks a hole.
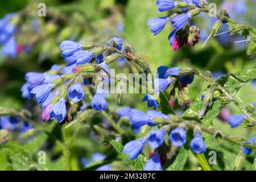
[[[129,156],[123,153],[123,145],[120,142],[115,142],[112,138],[107,137],[106,135],[103,135],[110,144],[114,147],[115,151],[121,156],[121,158],[126,159],[128,164],[130,165],[131,169],[134,171],[141,171],[143,170],[144,164],[146,163],[146,157],[142,154],[138,156],[137,159],[130,160]]]

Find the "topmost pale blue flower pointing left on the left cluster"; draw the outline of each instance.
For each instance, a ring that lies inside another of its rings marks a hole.
[[[77,42],[73,42],[72,40],[64,40],[60,44],[60,49],[63,51],[61,56],[69,57],[72,56],[76,51],[81,50],[81,44]]]

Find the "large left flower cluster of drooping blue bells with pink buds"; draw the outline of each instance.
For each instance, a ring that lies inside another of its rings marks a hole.
[[[110,39],[110,49],[122,51],[122,40],[119,38]],[[104,82],[108,84],[109,79],[101,76],[109,72],[108,65],[113,59],[119,60],[120,55],[113,54],[104,57],[106,47],[97,47],[93,43],[77,43],[65,40],[60,44],[63,51],[61,56],[68,62],[64,68],[59,65],[45,73],[29,72],[26,74],[26,84],[21,91],[24,98],[35,96],[36,101],[41,105],[43,121],[57,119],[58,122],[71,122],[77,111],[80,111],[82,100],[85,96],[84,86],[92,86],[96,94],[91,102],[94,110],[103,111],[107,107],[104,93]],[[113,58],[112,58],[112,57]],[[109,62],[108,62],[109,61]],[[93,76],[92,76],[93,75]],[[94,79],[90,79],[94,77]],[[63,88],[60,85],[68,82]],[[60,87],[58,87],[60,86]]]

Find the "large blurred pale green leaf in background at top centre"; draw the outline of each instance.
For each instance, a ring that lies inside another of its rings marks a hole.
[[[135,52],[139,52],[142,57],[146,56],[143,58],[148,60],[153,72],[160,65],[170,65],[173,52],[168,41],[171,32],[168,23],[156,36],[150,32],[150,26],[146,25],[149,19],[158,16],[164,15],[157,11],[155,1],[131,0],[127,5],[125,34]]]

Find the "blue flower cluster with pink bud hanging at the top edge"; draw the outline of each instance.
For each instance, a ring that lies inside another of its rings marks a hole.
[[[200,13],[200,10],[196,9],[196,7],[207,6],[206,1],[185,0],[180,2],[159,0],[156,2],[156,6],[158,6],[158,11],[161,12],[171,9],[180,9],[181,12],[148,20],[146,24],[151,26],[150,31],[154,35],[159,34],[166,26],[167,22],[170,21],[171,24],[174,25],[174,30],[168,36],[168,39],[174,51],[183,45],[195,46],[195,44],[199,42],[201,38],[199,27],[189,27],[189,20]]]

